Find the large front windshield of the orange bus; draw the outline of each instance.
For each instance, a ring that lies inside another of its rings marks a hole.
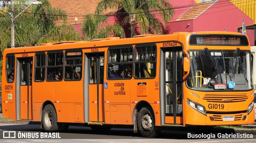
[[[189,51],[190,73],[187,86],[196,90],[250,90],[250,51]]]

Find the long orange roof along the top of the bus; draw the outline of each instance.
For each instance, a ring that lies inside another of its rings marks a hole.
[[[98,48],[98,47],[109,47],[115,45],[135,45],[138,43],[157,43],[164,41],[179,41],[182,38],[188,38],[193,34],[218,34],[218,35],[243,35],[238,32],[227,32],[227,31],[199,31],[199,32],[176,32],[169,35],[136,35],[133,38],[120,39],[119,37],[108,37],[103,39],[94,39],[91,41],[60,41],[57,43],[44,43],[40,46],[32,47],[15,47],[5,49],[4,53],[28,53],[35,51],[51,51],[63,50],[63,49],[77,49],[77,48]],[[157,38],[156,38],[157,37]],[[179,39],[180,38],[180,39]],[[138,40],[136,40],[138,39]],[[188,41],[187,41],[188,42]],[[72,43],[72,44],[71,44]],[[65,48],[63,48],[65,46]]]

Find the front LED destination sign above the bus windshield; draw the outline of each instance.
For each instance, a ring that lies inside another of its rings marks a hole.
[[[190,45],[248,45],[244,35],[191,35]]]

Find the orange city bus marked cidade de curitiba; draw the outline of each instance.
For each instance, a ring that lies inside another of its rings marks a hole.
[[[161,126],[254,123],[248,37],[208,31],[44,43],[4,50],[3,115],[45,131],[86,123]]]

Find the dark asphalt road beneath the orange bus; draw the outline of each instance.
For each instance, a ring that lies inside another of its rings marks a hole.
[[[19,132],[20,131],[20,132]],[[13,137],[15,132],[16,139],[3,138]],[[20,133],[20,136],[18,135]],[[5,136],[4,136],[5,134]],[[30,134],[30,135],[29,135]],[[46,135],[44,138],[40,136]],[[248,137],[231,137],[231,138],[218,138],[218,135],[234,135],[234,131],[230,130],[214,130],[209,133],[194,133],[193,131],[186,130],[184,128],[167,128],[164,129],[158,138],[146,139],[139,134],[133,133],[132,127],[115,127],[109,131],[93,131],[90,127],[84,127],[82,125],[71,125],[67,131],[58,133],[55,137],[49,133],[45,133],[40,129],[40,125],[32,124],[8,124],[0,123],[0,143],[35,143],[35,142],[47,142],[47,143],[218,143],[218,142],[232,142],[232,143],[255,143],[256,135],[246,134]],[[244,133],[239,133],[243,135]],[[36,135],[38,137],[36,138]],[[189,137],[189,135],[204,135],[201,137]],[[19,137],[18,137],[19,136]],[[210,139],[207,139],[207,138]],[[251,138],[252,137],[252,138]],[[50,138],[50,139],[48,139]],[[57,139],[52,139],[57,138]]]

